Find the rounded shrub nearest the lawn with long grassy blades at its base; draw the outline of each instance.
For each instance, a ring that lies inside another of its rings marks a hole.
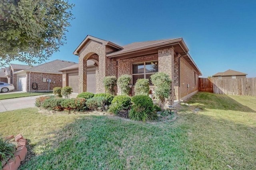
[[[145,122],[146,120],[154,120],[157,118],[153,101],[149,96],[133,96],[132,102],[133,105],[129,111],[130,119]]]

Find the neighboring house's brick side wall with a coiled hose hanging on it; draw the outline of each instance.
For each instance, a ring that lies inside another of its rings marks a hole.
[[[43,82],[43,78],[51,79],[50,91],[54,87],[62,87],[62,74],[47,74],[47,73],[30,73],[30,91],[35,92],[36,90],[32,89],[32,83],[36,82],[38,85],[38,91],[48,91],[48,82]],[[27,92],[29,92],[29,72],[27,72]]]

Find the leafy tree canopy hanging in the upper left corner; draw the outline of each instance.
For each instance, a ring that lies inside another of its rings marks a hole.
[[[66,41],[67,0],[0,0],[0,64],[42,63]]]

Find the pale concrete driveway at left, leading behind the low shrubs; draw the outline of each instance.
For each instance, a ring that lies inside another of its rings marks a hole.
[[[72,93],[70,98],[76,98],[78,93]],[[45,96],[45,95],[40,95]],[[14,98],[14,99],[5,99],[0,100],[0,112],[16,110],[16,109],[24,109],[28,107],[36,107],[35,100],[39,96],[30,96],[24,98]]]

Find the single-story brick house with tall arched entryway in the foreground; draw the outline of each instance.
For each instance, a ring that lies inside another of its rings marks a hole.
[[[138,78],[150,78],[156,72],[165,72],[172,79],[172,102],[183,100],[198,92],[198,77],[202,75],[188,54],[182,38],[137,42],[119,46],[88,35],[74,51],[79,56],[78,92],[88,91],[88,84],[95,84],[96,93],[105,92],[103,78],[122,74],[132,75],[132,95]],[[87,61],[95,64],[94,79],[88,80]],[[63,71],[63,86],[68,74]],[[94,82],[92,82],[94,81]],[[188,85],[189,84],[189,85]],[[154,86],[150,84],[154,91]],[[118,88],[118,94],[121,94]]]

